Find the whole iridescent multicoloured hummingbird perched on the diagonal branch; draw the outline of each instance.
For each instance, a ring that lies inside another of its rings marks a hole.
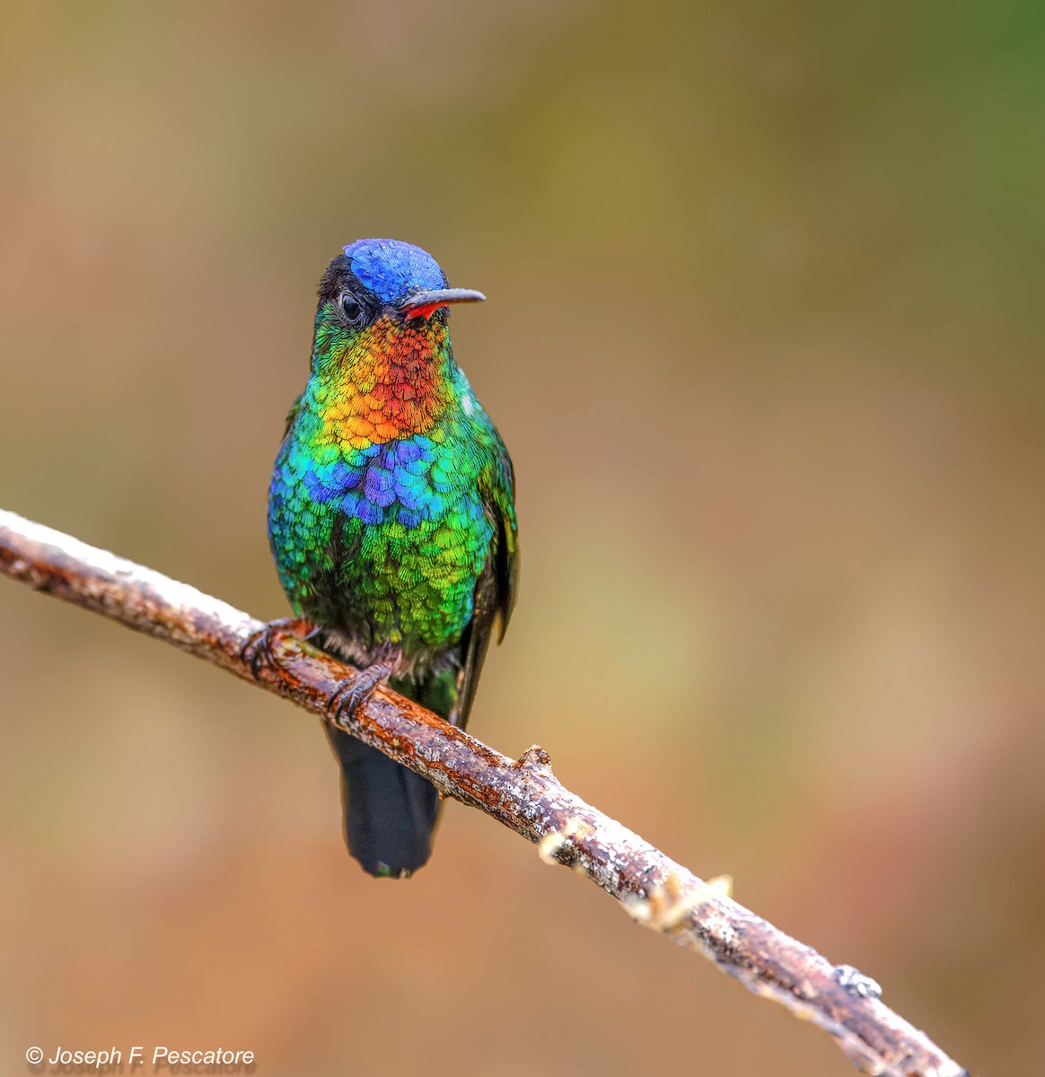
[[[497,428],[457,365],[450,288],[410,243],[359,239],[319,285],[305,391],[273,468],[268,540],[290,628],[361,672],[329,700],[349,853],[407,878],[431,853],[435,786],[349,736],[342,716],[379,684],[459,728],[490,639],[515,603],[515,476]],[[257,657],[257,651],[254,656]]]

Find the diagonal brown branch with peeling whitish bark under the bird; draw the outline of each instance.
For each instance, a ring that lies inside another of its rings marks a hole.
[[[254,681],[241,656],[263,624],[194,587],[3,510],[0,571]],[[321,717],[338,682],[356,674],[291,637],[277,638],[273,652],[280,669],[263,665],[257,683]],[[832,965],[732,900],[726,885],[703,882],[574,796],[543,749],[510,759],[388,688],[350,727],[441,793],[537,842],[542,858],[587,876],[639,923],[820,1025],[864,1073],[967,1077],[880,1001],[873,980]]]

